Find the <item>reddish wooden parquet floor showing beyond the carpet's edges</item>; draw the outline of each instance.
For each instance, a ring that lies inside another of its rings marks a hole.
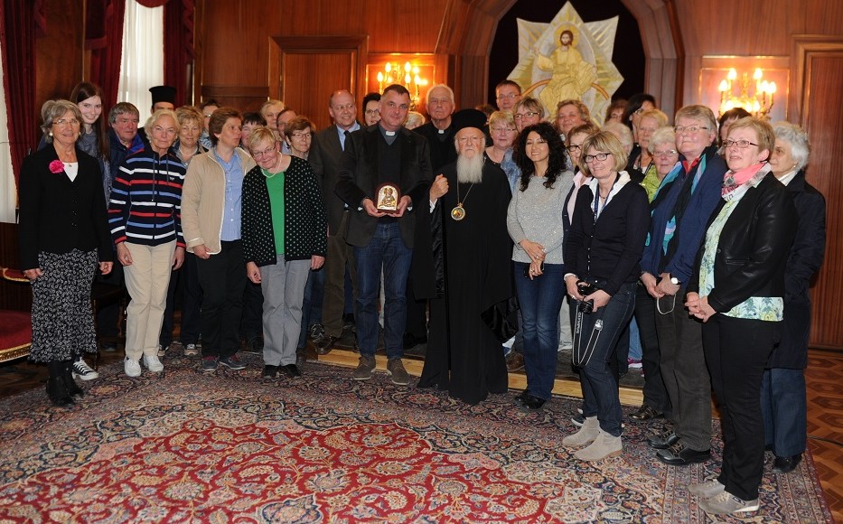
[[[102,353],[100,364],[119,360],[123,360],[123,351]],[[92,359],[88,361],[93,364]],[[43,366],[25,360],[0,364],[0,401],[26,389],[43,388],[46,379]],[[843,352],[809,351],[806,383],[808,446],[831,514],[843,523]]]

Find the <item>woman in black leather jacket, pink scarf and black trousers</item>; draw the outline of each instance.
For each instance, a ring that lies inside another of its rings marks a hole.
[[[708,221],[688,283],[688,312],[702,342],[720,407],[723,463],[691,484],[699,507],[722,515],[758,510],[764,463],[761,384],[784,317],[785,269],[799,221],[767,160],[773,127],[744,117],[729,127],[721,200]]]

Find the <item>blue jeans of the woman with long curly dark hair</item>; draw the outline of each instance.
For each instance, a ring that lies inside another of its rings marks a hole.
[[[524,335],[524,370],[527,390],[535,397],[550,398],[557,374],[559,308],[565,297],[562,264],[545,264],[544,273],[532,280],[524,276],[529,264],[515,262],[515,291],[521,308]]]

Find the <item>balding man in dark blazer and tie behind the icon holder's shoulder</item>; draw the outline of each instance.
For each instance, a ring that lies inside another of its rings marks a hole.
[[[357,287],[354,274],[354,252],[342,238],[348,227],[348,206],[334,192],[340,176],[342,151],[354,131],[361,128],[357,122],[354,97],[345,89],[334,91],[328,100],[328,113],[333,126],[328,126],[314,136],[308,162],[313,166],[316,180],[322,187],[322,198],[328,211],[328,257],[324,266],[324,299],[322,323],[324,333],[316,339],[316,352],[327,354],[342,335],[342,313],[345,309],[345,270],[351,271],[351,285]]]

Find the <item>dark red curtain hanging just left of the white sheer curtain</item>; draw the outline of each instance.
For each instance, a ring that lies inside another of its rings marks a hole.
[[[90,81],[102,89],[102,107],[117,103],[120,55],[123,52],[123,18],[126,0],[88,0],[85,49],[90,50]]]

